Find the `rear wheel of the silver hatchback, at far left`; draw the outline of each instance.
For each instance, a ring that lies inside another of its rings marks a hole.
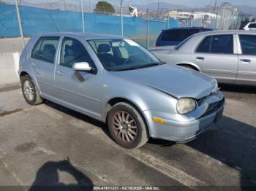
[[[29,75],[25,75],[21,77],[20,81],[23,97],[25,98],[26,102],[33,106],[42,104],[43,100],[40,97],[31,77],[29,77]]]

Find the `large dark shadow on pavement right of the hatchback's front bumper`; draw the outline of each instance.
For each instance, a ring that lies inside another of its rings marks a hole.
[[[256,186],[256,127],[224,116],[216,128],[187,145],[240,171],[243,190]]]

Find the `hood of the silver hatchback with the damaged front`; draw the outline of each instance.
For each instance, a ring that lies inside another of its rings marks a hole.
[[[203,98],[214,91],[217,83],[206,74],[171,64],[129,71],[113,71],[113,74],[140,82],[175,98]]]

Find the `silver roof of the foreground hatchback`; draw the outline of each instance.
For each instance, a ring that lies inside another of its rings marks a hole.
[[[52,34],[42,34],[39,36],[61,36],[61,35],[69,35],[69,36],[82,36],[85,39],[124,39],[124,36],[118,36],[113,34],[91,34],[91,33],[78,33],[78,32],[59,32]]]

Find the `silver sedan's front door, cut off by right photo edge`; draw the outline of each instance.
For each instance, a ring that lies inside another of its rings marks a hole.
[[[241,52],[238,55],[236,84],[256,85],[256,35],[239,34]]]

